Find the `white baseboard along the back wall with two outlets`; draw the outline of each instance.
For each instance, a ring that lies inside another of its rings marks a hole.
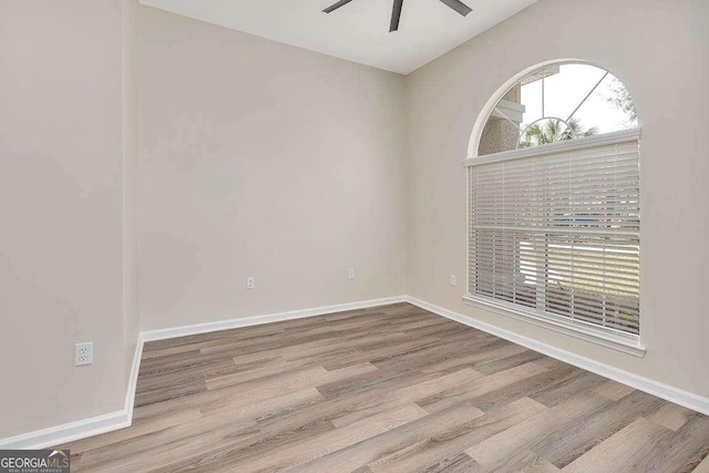
[[[185,337],[198,333],[208,333],[219,330],[238,329],[242,327],[259,326],[263,323],[282,322],[285,320],[296,320],[306,317],[323,316],[326,313],[343,312],[346,310],[367,309],[370,307],[388,306],[390,304],[404,302],[407,296],[387,297],[383,299],[371,299],[359,302],[339,304],[336,306],[322,306],[311,309],[289,310],[287,312],[268,313],[264,316],[243,317],[239,319],[220,320],[218,322],[198,323],[194,326],[176,327],[162,330],[148,330],[141,333],[144,342],[165,340],[168,338]]]

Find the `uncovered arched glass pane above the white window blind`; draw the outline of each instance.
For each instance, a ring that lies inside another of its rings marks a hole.
[[[527,73],[490,111],[476,155],[637,127],[635,104],[608,71],[555,63]]]

